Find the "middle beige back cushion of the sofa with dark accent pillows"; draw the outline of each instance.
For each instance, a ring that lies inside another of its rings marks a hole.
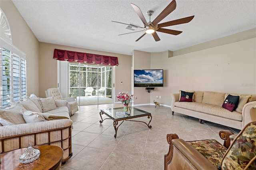
[[[224,96],[225,96],[225,93],[205,91],[202,103],[222,106],[223,101],[225,99]]]

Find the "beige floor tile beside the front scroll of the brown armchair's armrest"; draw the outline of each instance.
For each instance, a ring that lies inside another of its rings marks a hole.
[[[143,158],[163,160],[164,155],[168,153],[169,144],[159,144],[153,142],[146,142]]]

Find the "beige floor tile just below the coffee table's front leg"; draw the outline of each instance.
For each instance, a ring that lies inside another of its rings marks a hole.
[[[142,157],[145,143],[142,140],[126,140],[122,138],[113,152]]]

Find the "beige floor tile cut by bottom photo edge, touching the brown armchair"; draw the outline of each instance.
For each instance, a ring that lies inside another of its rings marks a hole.
[[[152,160],[147,158],[142,158],[140,164],[140,170],[163,170],[164,169],[164,159],[162,160]]]

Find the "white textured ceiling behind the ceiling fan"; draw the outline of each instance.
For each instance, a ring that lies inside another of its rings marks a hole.
[[[203,42],[256,28],[256,0],[177,0],[176,9],[162,22],[195,16],[187,24],[166,27],[183,31],[174,36],[157,32],[159,42],[144,32],[132,32],[118,21],[143,27],[130,3],[146,12],[153,10],[151,21],[171,0],[12,0],[39,42],[86,49],[132,54],[176,51]],[[135,31],[142,30],[138,28]]]

